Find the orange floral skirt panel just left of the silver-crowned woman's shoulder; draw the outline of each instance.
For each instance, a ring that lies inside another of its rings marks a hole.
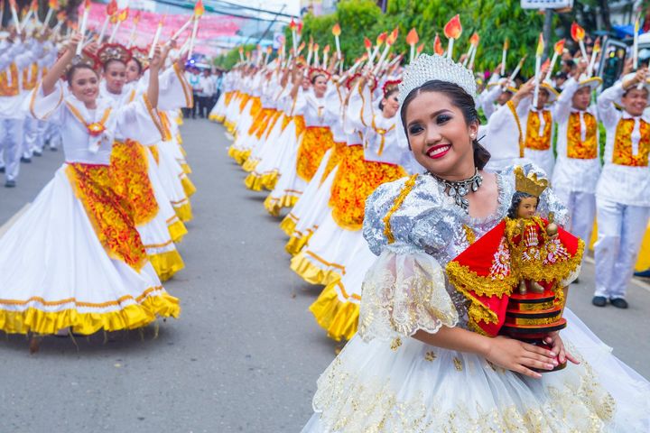
[[[359,230],[363,226],[368,196],[382,183],[404,176],[406,172],[402,167],[366,161],[363,146],[349,146],[331,187],[332,218],[342,228]]]

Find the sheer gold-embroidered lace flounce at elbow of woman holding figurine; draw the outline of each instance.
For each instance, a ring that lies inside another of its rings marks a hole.
[[[415,248],[400,253],[386,248],[366,274],[359,313],[359,335],[365,340],[413,336],[422,329],[438,332],[454,327],[458,312],[445,287],[441,265]]]

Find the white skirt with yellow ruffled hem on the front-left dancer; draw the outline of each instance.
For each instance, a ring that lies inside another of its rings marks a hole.
[[[108,256],[65,169],[0,238],[0,330],[92,334],[178,316],[151,263],[137,272]]]

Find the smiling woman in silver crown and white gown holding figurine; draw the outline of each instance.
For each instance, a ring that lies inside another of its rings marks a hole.
[[[368,198],[367,273],[357,336],[320,376],[305,432],[647,431],[648,382],[569,309],[551,350],[469,330],[468,302],[444,267],[506,216],[515,175],[482,170],[472,73],[421,55],[400,85],[401,127],[426,174]],[[538,169],[530,165],[530,172]],[[469,188],[476,185],[478,189]],[[450,192],[466,186],[456,200]],[[566,210],[546,189],[539,212]],[[558,355],[571,364],[554,368]]]

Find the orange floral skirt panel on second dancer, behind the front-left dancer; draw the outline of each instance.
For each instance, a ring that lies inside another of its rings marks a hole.
[[[133,140],[115,142],[110,167],[114,189],[129,203],[135,226],[151,221],[158,214],[158,202],[149,180],[149,164],[142,144]]]

